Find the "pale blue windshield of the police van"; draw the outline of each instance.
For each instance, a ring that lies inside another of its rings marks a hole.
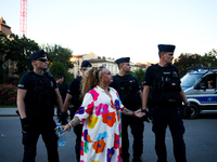
[[[202,77],[202,73],[187,73],[181,78],[181,87],[191,87]]]

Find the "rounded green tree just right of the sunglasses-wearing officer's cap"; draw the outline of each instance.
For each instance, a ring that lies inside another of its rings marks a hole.
[[[65,70],[68,70],[68,68],[74,67],[73,63],[71,62],[73,52],[69,49],[65,49],[56,44],[54,44],[53,46],[49,44],[41,45],[41,48],[47,52],[47,56],[48,56],[48,59],[50,60],[49,62],[50,65],[53,62],[60,62],[64,65]]]

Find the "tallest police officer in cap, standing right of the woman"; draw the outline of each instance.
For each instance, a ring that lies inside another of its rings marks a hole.
[[[180,113],[181,103],[189,106],[176,66],[171,65],[175,45],[158,44],[159,63],[146,69],[143,82],[142,109],[153,109],[153,132],[157,162],[167,161],[165,133],[167,125],[171,132],[176,162],[186,162],[184,126]]]

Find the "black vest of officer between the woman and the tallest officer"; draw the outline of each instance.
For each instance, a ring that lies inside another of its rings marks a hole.
[[[119,94],[123,105],[130,110],[141,108],[141,97],[136,89],[136,82],[131,75],[120,78],[117,75],[113,77],[116,83],[116,91]]]

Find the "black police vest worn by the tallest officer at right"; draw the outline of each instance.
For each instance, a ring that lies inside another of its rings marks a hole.
[[[162,71],[157,65],[152,65],[152,67],[155,71],[156,80],[152,84],[151,95],[153,93],[159,93],[161,98],[158,98],[158,100],[162,103],[171,105],[180,104],[180,79],[177,71],[175,70],[175,67],[173,65],[168,65],[168,71]]]

